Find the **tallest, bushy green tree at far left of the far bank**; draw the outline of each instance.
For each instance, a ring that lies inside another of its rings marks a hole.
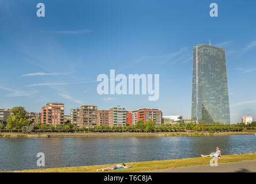
[[[7,129],[21,129],[28,126],[29,122],[26,117],[25,109],[22,107],[14,107],[10,110],[10,116],[7,119]]]

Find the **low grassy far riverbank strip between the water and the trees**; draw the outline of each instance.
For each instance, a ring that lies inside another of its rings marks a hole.
[[[255,132],[157,132],[157,133],[0,133],[0,138],[50,138],[50,137],[171,137],[171,136],[227,136],[254,135]]]

